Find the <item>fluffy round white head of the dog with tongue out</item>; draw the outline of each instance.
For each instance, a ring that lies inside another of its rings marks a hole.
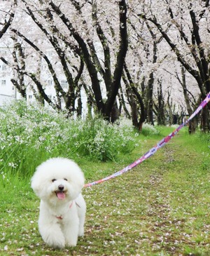
[[[43,201],[71,201],[80,194],[85,178],[78,165],[69,159],[54,158],[41,163],[31,179],[31,187]]]

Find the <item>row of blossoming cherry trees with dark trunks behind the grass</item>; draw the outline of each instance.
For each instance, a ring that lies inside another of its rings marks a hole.
[[[13,69],[12,82],[23,97],[30,87],[41,102],[61,109],[63,99],[69,115],[81,114],[83,88],[87,106],[104,119],[116,121],[124,111],[141,129],[144,121],[154,123],[154,114],[158,124],[172,123],[176,112],[192,114],[210,91],[207,0],[11,0],[1,5],[0,40],[13,46],[1,60]],[[45,93],[43,66],[52,77],[54,99]],[[210,130],[209,119],[206,108],[203,130]],[[190,130],[196,126],[197,120]]]

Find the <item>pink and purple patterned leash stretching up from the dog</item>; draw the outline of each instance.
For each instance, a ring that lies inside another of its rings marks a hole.
[[[108,177],[104,177],[102,180],[97,180],[97,181],[94,181],[94,182],[87,183],[87,184],[85,184],[84,187],[92,187],[95,184],[105,182],[106,180],[111,180],[114,177],[118,177],[119,175],[122,175],[123,173],[127,173],[127,171],[131,170],[135,166],[138,166],[140,163],[142,163],[143,161],[145,161],[149,157],[153,156],[153,154],[155,154],[155,152],[158,151],[158,149],[165,146],[165,144],[167,144],[167,142],[169,142],[169,140],[171,140],[172,137],[174,137],[179,132],[179,130],[181,130],[181,128],[183,128],[183,126],[186,126],[189,123],[189,121],[191,119],[193,119],[193,117],[195,117],[207,105],[207,103],[209,101],[210,101],[210,93],[208,93],[205,100],[200,104],[200,106],[195,110],[195,112],[189,117],[188,120],[186,120],[184,123],[182,123],[178,128],[176,128],[176,130],[174,130],[172,133],[170,133],[167,137],[160,140],[160,142],[158,142],[155,145],[155,147],[153,147],[152,149],[147,151],[146,154],[144,154],[144,156],[141,156],[140,159],[137,159],[137,161],[134,161],[134,163],[131,163],[129,166],[123,168],[123,170],[119,170],[117,173],[113,173],[112,175],[110,175]]]

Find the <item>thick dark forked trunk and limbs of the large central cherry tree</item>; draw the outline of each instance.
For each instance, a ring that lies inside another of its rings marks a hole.
[[[71,2],[73,7],[76,8],[78,15],[82,17],[82,8],[76,1]],[[92,11],[92,29],[95,29],[97,39],[99,39],[100,46],[102,47],[102,55],[99,56],[97,50],[94,46],[94,38],[93,40],[90,38],[90,34],[87,35],[87,38],[83,38],[78,33],[78,30],[75,29],[73,23],[66,14],[61,10],[59,6],[56,6],[52,1],[50,2],[50,7],[59,18],[62,20],[63,24],[71,35],[73,39],[75,39],[76,43],[78,43],[78,47],[80,48],[81,58],[85,62],[87,70],[90,74],[90,79],[92,81],[92,90],[94,92],[94,97],[96,100],[96,105],[98,112],[102,113],[107,120],[111,119],[111,114],[113,111],[113,107],[116,102],[116,96],[118,95],[118,90],[120,88],[120,81],[123,73],[123,65],[125,61],[125,56],[127,53],[127,4],[125,0],[118,1],[119,8],[119,43],[118,49],[116,50],[116,65],[113,67],[113,72],[111,70],[111,43],[109,43],[108,36],[106,36],[104,30],[102,29],[102,25],[99,19],[100,11],[97,11],[97,1],[92,1],[91,3],[91,11]],[[102,17],[102,15],[101,15]],[[104,20],[103,20],[104,22]],[[109,28],[109,22],[105,20],[107,29],[113,31]],[[87,26],[86,20],[83,20],[83,24],[85,27]],[[87,26],[88,29],[88,26]],[[88,29],[89,30],[89,29]],[[87,31],[88,31],[87,30]],[[95,33],[92,32],[92,33]],[[113,41],[113,40],[112,40]],[[99,60],[99,58],[103,58],[103,62]],[[106,100],[105,102],[102,99],[101,92],[101,84],[99,83],[99,76],[102,77],[103,82],[106,87]],[[115,121],[115,120],[113,120]]]

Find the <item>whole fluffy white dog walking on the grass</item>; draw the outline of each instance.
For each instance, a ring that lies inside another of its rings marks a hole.
[[[81,194],[85,178],[69,159],[49,159],[36,168],[31,187],[41,198],[38,229],[54,248],[76,246],[84,234],[86,204]]]

